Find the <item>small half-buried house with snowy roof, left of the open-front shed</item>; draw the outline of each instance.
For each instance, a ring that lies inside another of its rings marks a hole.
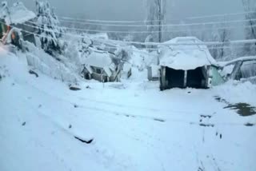
[[[99,82],[119,82],[121,63],[114,60],[113,54],[106,51],[93,51],[84,61],[84,78]]]

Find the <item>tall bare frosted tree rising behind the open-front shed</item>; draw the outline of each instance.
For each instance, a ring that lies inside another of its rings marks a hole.
[[[146,25],[154,42],[162,42],[162,25],[165,17],[166,0],[146,0]]]

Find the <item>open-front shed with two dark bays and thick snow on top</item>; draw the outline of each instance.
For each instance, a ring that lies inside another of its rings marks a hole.
[[[210,87],[210,66],[216,62],[207,46],[198,38],[174,38],[162,43],[160,54],[160,89]]]

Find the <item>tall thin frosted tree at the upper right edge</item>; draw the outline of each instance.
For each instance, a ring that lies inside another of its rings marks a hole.
[[[248,20],[246,24],[246,39],[256,39],[256,2],[254,0],[242,0],[245,18]],[[244,55],[256,55],[256,44],[246,43],[244,47]]]

